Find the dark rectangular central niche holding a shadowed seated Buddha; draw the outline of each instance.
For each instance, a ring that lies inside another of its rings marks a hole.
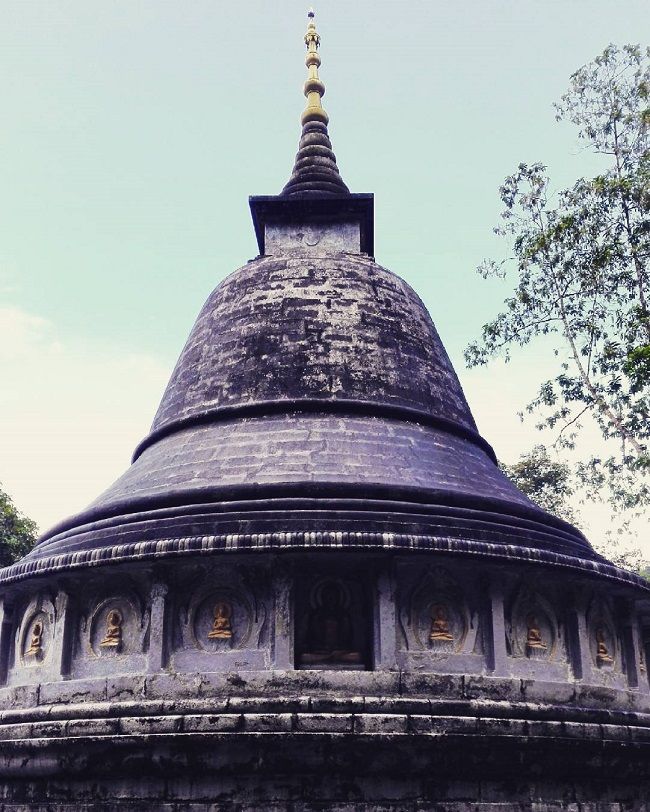
[[[333,576],[298,588],[296,667],[363,670],[370,660],[367,591],[361,581]]]

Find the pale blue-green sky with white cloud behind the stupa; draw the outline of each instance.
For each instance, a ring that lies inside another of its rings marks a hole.
[[[129,465],[204,300],[256,255],[247,198],[291,171],[306,10],[0,0],[0,483],[42,530]],[[553,102],[608,43],[639,41],[647,0],[315,10],[330,135],[350,189],[375,194],[377,261],[423,298],[514,462],[545,439],[517,412],[554,367],[548,346],[465,367],[509,291],[476,274],[507,253],[498,187],[520,161],[555,189],[597,171]],[[602,509],[589,520],[598,535]]]

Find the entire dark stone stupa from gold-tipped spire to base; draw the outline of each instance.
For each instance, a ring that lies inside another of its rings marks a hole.
[[[499,470],[305,42],[260,255],[131,467],[0,573],[0,807],[647,809],[649,586]]]

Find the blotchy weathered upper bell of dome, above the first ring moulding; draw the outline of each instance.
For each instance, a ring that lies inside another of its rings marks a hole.
[[[319,398],[475,423],[419,297],[350,254],[249,262],[209,297],[153,429],[207,409]]]

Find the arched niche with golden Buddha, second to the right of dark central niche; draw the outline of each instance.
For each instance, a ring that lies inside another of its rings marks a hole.
[[[513,657],[556,660],[563,657],[560,630],[552,604],[528,585],[512,601],[507,640]]]

